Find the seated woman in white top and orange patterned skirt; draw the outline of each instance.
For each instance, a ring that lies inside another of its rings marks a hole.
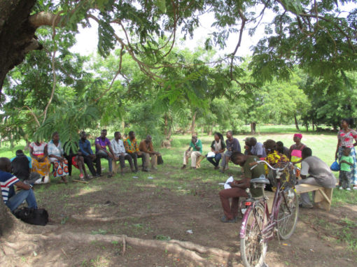
[[[36,140],[29,145],[29,154],[32,159],[32,172],[41,175],[41,180],[36,183],[50,182],[50,159],[48,159],[47,143]]]

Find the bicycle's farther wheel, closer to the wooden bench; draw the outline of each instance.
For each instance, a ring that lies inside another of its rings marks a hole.
[[[290,238],[295,231],[299,214],[299,200],[293,189],[281,194],[284,194],[286,200],[282,199],[279,206],[277,228],[280,238],[285,240]]]

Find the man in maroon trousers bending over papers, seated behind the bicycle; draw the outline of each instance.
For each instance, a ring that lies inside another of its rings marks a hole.
[[[246,188],[250,188],[251,195],[253,197],[262,196],[262,188],[253,188],[251,185],[251,179],[260,178],[261,175],[265,175],[265,169],[263,164],[258,164],[253,169],[251,163],[258,161],[256,156],[241,154],[241,152],[233,152],[230,156],[230,160],[244,169],[244,175],[241,175],[241,180],[234,180],[230,183],[232,188],[223,189],[219,192],[221,203],[223,207],[224,216],[221,218],[221,222],[236,222],[239,211],[239,197],[248,197]],[[230,205],[230,199],[232,199],[232,205]]]

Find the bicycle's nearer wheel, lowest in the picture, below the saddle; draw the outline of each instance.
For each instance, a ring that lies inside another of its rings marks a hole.
[[[262,266],[267,243],[262,240],[262,226],[265,220],[265,212],[262,205],[256,205],[247,215],[245,237],[241,238],[241,259],[245,267]]]

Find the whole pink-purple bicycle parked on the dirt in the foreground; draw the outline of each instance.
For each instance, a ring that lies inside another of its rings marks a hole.
[[[276,164],[279,167],[273,168],[266,161],[257,161],[257,164],[264,163],[271,169],[269,180],[265,177],[251,180],[255,188],[264,189],[265,185],[272,184],[276,189],[272,204],[272,212],[269,213],[267,196],[253,198],[249,189],[248,199],[242,201],[241,208],[245,206],[246,211],[241,223],[240,247],[241,259],[246,267],[264,266],[265,254],[267,252],[267,242],[274,238],[274,233],[278,238],[288,239],[295,231],[297,217],[299,213],[299,202],[295,193],[295,167],[290,163]]]

